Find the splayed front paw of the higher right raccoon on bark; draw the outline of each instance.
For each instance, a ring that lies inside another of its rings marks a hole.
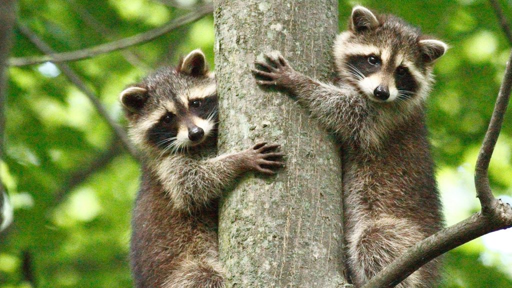
[[[291,75],[295,72],[280,52],[265,54],[266,61],[256,60],[256,68],[251,69],[255,76],[265,80],[257,80],[259,85],[288,88],[293,85]]]

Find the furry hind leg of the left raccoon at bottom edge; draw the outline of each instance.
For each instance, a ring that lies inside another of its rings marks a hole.
[[[211,259],[184,259],[163,288],[224,288],[221,264]]]

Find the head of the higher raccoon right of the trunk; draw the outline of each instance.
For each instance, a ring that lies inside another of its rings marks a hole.
[[[334,57],[342,81],[370,100],[417,102],[428,95],[432,65],[447,48],[398,17],[356,6],[349,30],[336,39]]]

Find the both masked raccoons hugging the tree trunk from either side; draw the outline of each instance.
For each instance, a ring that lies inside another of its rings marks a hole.
[[[400,18],[357,6],[334,44],[335,84],[294,71],[280,54],[256,62],[259,84],[290,92],[344,148],[346,264],[356,287],[442,228],[424,100],[446,49]],[[274,173],[283,154],[260,143],[207,158],[216,146],[217,94],[200,51],[127,88],[121,102],[147,155],[133,220],[136,286],[224,287],[217,199],[244,172]],[[431,261],[397,287],[434,287],[438,269]]]

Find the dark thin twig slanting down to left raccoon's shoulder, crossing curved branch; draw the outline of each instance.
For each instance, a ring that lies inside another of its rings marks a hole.
[[[30,30],[27,26],[18,24],[19,30],[27,36],[30,41],[42,52],[51,54],[53,53],[53,50],[50,46],[48,46],[45,42],[43,42],[32,30]],[[80,91],[85,94],[89,100],[92,102],[98,113],[103,117],[103,119],[109,124],[110,128],[114,132],[115,136],[121,140],[123,143],[124,148],[130,154],[134,156],[134,158],[138,159],[138,154],[136,150],[132,147],[130,140],[128,139],[128,136],[124,132],[124,130],[117,124],[117,122],[110,117],[109,112],[106,111],[106,109],[103,107],[101,102],[99,101],[96,93],[94,93],[83,81],[80,79],[80,77],[71,69],[71,67],[65,63],[57,63],[57,66],[59,69],[64,73],[68,79],[80,89]]]

